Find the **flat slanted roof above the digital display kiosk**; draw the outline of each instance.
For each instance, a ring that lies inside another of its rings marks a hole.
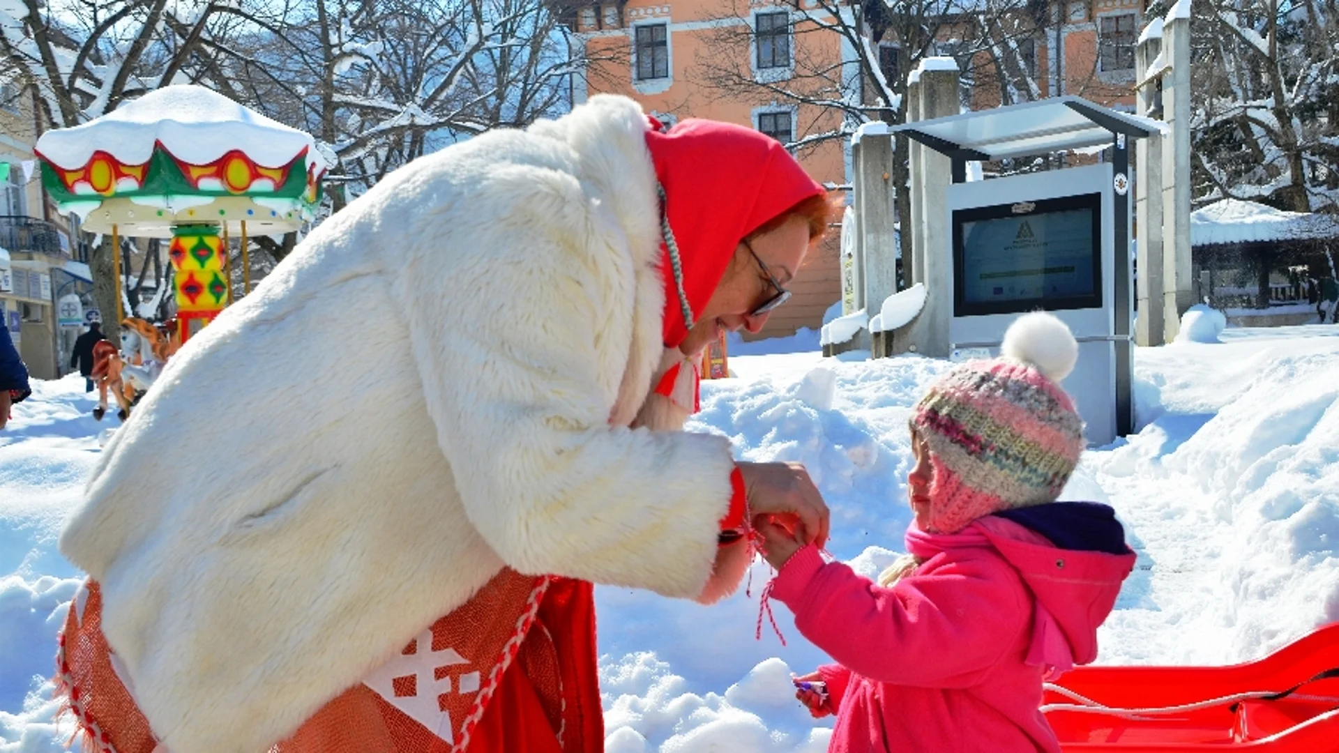
[[[1110,143],[1113,134],[1144,138],[1165,130],[1166,125],[1161,121],[1118,113],[1074,95],[889,129],[905,133],[941,154],[963,159],[1030,157]]]

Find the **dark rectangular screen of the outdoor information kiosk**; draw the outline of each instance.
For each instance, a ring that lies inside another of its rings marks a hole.
[[[1099,194],[953,212],[955,315],[1102,305]]]

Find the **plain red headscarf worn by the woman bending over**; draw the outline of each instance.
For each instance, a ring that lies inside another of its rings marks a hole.
[[[774,138],[716,121],[688,119],[660,133],[653,118],[647,147],[665,189],[670,228],[683,263],[692,315],[702,314],[726,265],[749,233],[801,201],[825,193]],[[665,255],[664,343],[678,347],[692,322],[683,320],[679,291]]]

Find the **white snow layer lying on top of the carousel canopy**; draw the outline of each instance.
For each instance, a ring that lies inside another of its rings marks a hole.
[[[280,167],[305,149],[309,172],[325,167],[311,135],[195,84],[166,86],[87,123],[50,130],[36,150],[66,169],[83,167],[95,150],[142,165],[155,142],[191,165],[242,149],[261,166]]]

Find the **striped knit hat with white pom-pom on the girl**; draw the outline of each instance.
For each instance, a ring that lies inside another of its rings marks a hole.
[[[935,469],[931,533],[1052,502],[1079,462],[1083,422],[1059,386],[1078,360],[1070,328],[1050,314],[1026,314],[1000,354],[953,368],[916,403],[911,426]]]

